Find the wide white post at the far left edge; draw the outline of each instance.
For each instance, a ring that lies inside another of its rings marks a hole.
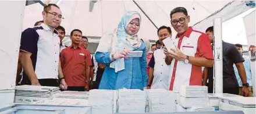
[[[0,1],[0,90],[15,88],[25,6],[26,1]]]

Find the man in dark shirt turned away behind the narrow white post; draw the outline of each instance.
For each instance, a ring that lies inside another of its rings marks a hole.
[[[205,30],[211,42],[214,41],[214,27],[208,27]],[[223,93],[229,94],[239,94],[239,85],[237,83],[236,76],[234,74],[233,64],[236,65],[239,76],[243,83],[243,88],[241,89],[244,96],[248,96],[248,83],[246,80],[246,71],[244,69],[244,59],[237,51],[236,45],[229,44],[222,41],[222,54],[223,54]],[[203,85],[206,85],[208,79],[208,92],[213,92],[213,68],[205,67]]]

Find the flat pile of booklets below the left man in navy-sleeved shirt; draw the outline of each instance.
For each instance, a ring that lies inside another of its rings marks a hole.
[[[34,104],[44,99],[52,99],[54,94],[61,92],[59,87],[37,85],[20,85],[15,87],[15,103]]]

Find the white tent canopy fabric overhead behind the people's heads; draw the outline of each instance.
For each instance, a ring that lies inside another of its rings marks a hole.
[[[186,8],[190,15],[190,26],[205,19],[230,1],[136,1],[157,27],[170,26],[169,13],[177,6]],[[56,1],[50,1],[56,3]],[[138,36],[148,40],[157,40],[157,28],[147,19],[133,1],[97,1],[93,12],[89,12],[90,1],[61,1],[59,6],[65,19],[62,26],[69,34],[73,29],[80,29],[83,35],[101,37],[111,32],[125,12],[136,10],[141,14],[142,22]],[[42,6],[39,3],[26,6],[23,30],[42,20]],[[173,30],[173,34],[176,34]],[[174,36],[174,35],[173,35]]]

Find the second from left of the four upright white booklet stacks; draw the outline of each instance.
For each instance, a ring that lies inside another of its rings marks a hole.
[[[119,113],[145,113],[146,92],[121,89],[118,95]]]

